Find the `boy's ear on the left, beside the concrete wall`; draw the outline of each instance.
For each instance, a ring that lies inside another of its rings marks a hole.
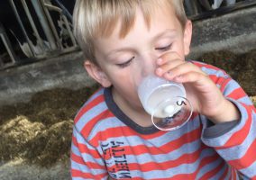
[[[86,60],[84,67],[87,69],[89,76],[93,77],[100,85],[104,87],[109,87],[111,85],[111,82],[105,75],[105,72],[100,67],[96,66],[96,64]]]

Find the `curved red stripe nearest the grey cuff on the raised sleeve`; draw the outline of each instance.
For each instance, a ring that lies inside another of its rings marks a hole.
[[[246,120],[244,126],[241,130],[234,132],[231,138],[227,140],[223,147],[216,147],[216,149],[231,148],[233,146],[240,145],[242,144],[243,140],[247,138],[251,129],[251,109],[246,105],[243,106],[246,108],[248,114],[248,119]]]

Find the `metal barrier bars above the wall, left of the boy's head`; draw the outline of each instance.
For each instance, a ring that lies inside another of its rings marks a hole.
[[[0,54],[0,69],[78,49],[72,33],[71,15],[59,0],[9,0],[8,3],[24,40],[0,22],[0,43],[2,41],[2,47],[5,46]],[[9,40],[6,31],[11,32],[9,34],[15,41]],[[3,56],[6,51],[8,56]],[[16,55],[16,51],[22,56]]]

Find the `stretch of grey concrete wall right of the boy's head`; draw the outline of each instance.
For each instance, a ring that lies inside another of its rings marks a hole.
[[[256,48],[256,6],[193,23],[189,58],[216,50],[235,54]]]

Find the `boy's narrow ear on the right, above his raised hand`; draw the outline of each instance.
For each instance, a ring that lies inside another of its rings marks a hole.
[[[189,51],[190,51],[191,39],[192,39],[192,23],[190,20],[187,20],[185,30],[184,30],[184,37],[183,37],[184,52],[186,56],[189,54]]]

